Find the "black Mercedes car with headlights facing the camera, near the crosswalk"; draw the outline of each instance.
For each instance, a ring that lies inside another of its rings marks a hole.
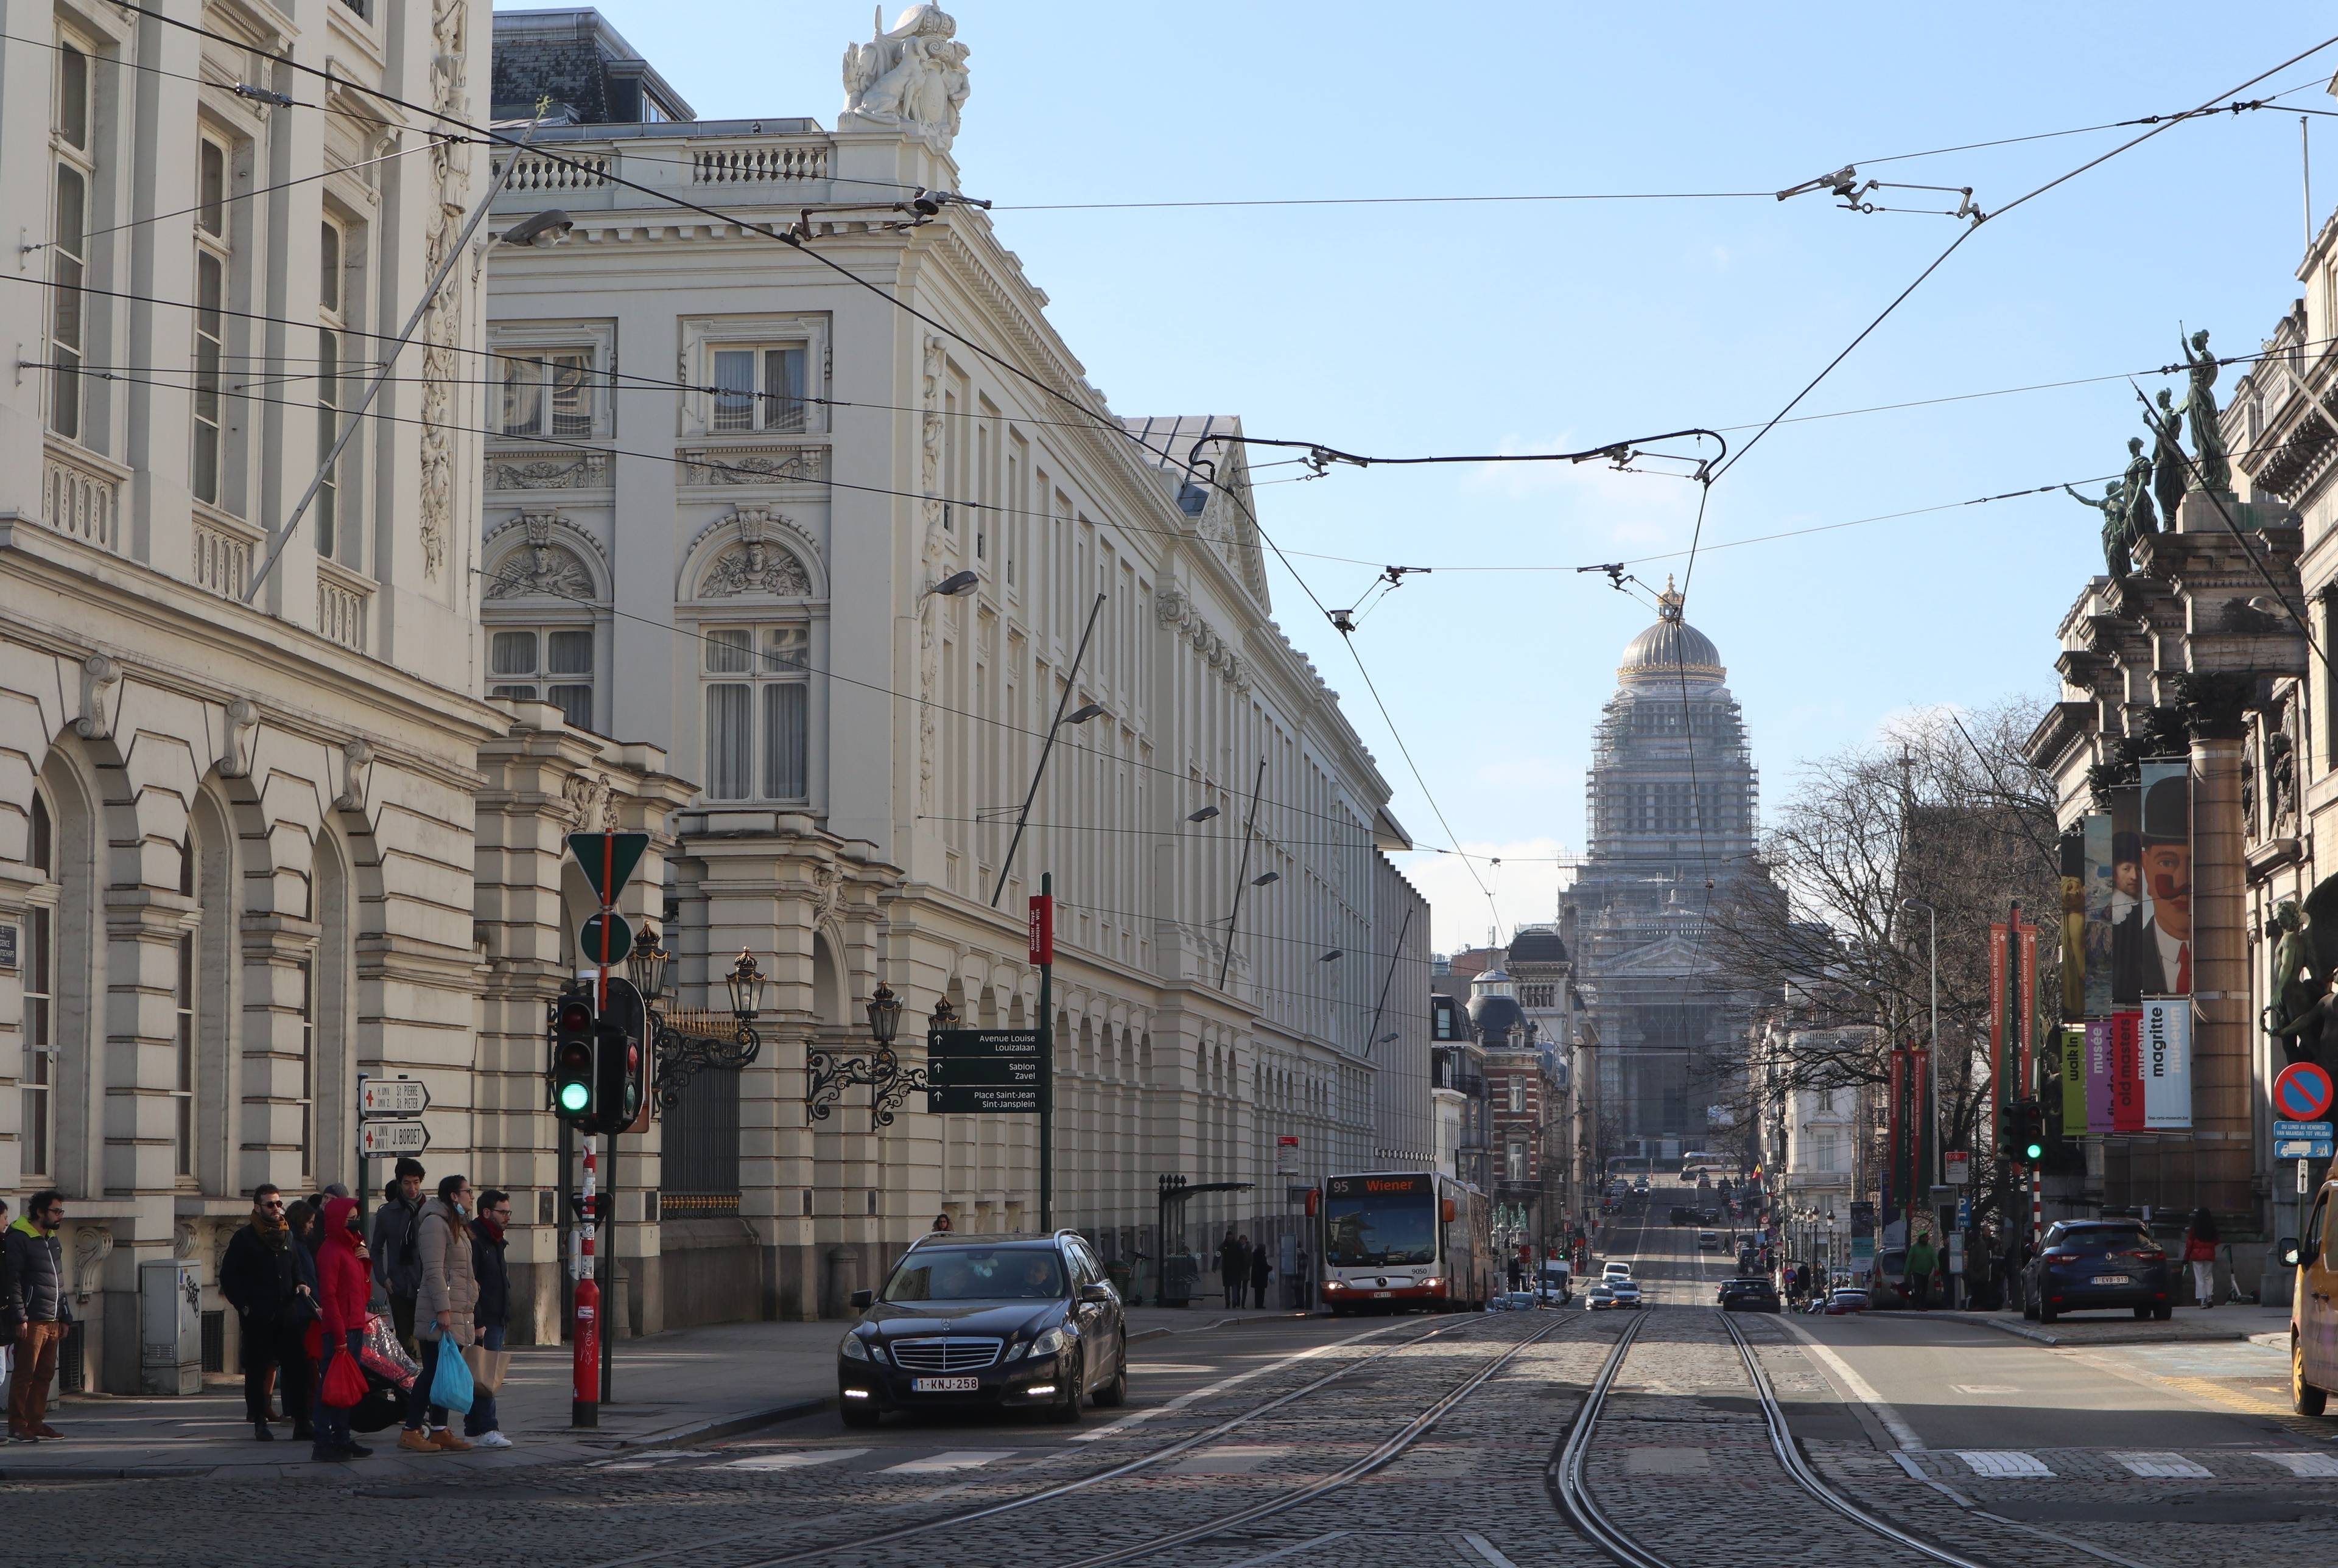
[[[888,1409],[1045,1409],[1129,1397],[1120,1292],[1075,1231],[916,1239],[884,1290],[856,1290],[837,1346],[844,1425]]]

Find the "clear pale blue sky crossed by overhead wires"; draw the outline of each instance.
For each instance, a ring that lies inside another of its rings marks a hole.
[[[2329,7],[2287,0],[947,9],[973,49],[961,187],[996,203],[1113,409],[1239,414],[1251,435],[1379,456],[1569,451],[1688,425],[1742,449],[1964,227],[1775,192],[1856,164],[1863,180],[1971,187],[1994,213],[2146,126],[2043,133],[2228,98],[2338,33]],[[832,126],[837,61],[870,28],[860,0],[601,12],[708,119]],[[2179,322],[2209,327],[2221,353],[2261,346],[2301,292],[2294,110],[2338,110],[2333,70],[2338,47],[2242,93],[2296,89],[2275,107],[2179,124],[1985,222],[1798,414],[1957,402],[1782,423],[1711,486],[1688,619],[1730,668],[1765,802],[1894,713],[2055,696],[2055,626],[2102,570],[2100,514],[2060,491],[1952,502],[2118,472],[2142,425],[2111,376],[2179,360]],[[1898,157],[1997,138],[2036,140]],[[2319,220],[2338,199],[2338,119],[2315,119],[2312,138]],[[1751,194],[1015,210],[1674,192]],[[2102,381],[1966,397],[2088,376]],[[2181,395],[2179,379],[2139,386]],[[1260,484],[1256,502],[1323,605],[1354,605],[1379,566],[1433,568],[1370,612],[1354,650],[1284,566],[1272,591],[1396,818],[1422,844],[1503,858],[1475,879],[1452,855],[1400,858],[1436,944],[1552,918],[1616,657],[1653,619],[1646,594],[1573,568],[1625,561],[1651,587],[1686,575],[1697,486],[1597,463],[1335,467]],[[1952,509],[1828,528],[1917,507]],[[1810,528],[1826,530],[1751,542]]]

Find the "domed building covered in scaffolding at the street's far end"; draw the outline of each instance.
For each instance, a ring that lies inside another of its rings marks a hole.
[[[1606,1154],[1679,1157],[1704,1138],[1711,1054],[1735,1054],[1751,1000],[1716,979],[1714,902],[1754,862],[1758,773],[1721,650],[1669,587],[1632,638],[1592,738],[1588,851],[1562,895],[1599,1038]]]

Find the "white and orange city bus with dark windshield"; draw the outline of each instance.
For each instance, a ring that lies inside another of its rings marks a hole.
[[[1475,1311],[1499,1274],[1485,1194],[1438,1171],[1326,1180],[1319,1257],[1335,1313]]]

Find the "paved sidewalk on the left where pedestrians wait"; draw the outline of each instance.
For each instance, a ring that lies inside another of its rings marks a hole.
[[[1132,1306],[1129,1341],[1192,1334],[1225,1323],[1298,1318],[1288,1311],[1227,1311],[1223,1306]],[[348,1465],[309,1463],[309,1444],[278,1425],[276,1442],[257,1442],[243,1421],[243,1379],[206,1379],[203,1393],[182,1400],[72,1395],[49,1407],[49,1423],[65,1437],[37,1446],[0,1449],[0,1482],[189,1477],[264,1479],[276,1475],[407,1475],[573,1463],[627,1449],[673,1449],[748,1432],[774,1421],[835,1404],[837,1339],[844,1323],[718,1323],[708,1327],[620,1339],[610,1383],[615,1402],[601,1404],[601,1425],[577,1430],[570,1416],[568,1346],[512,1351],[512,1372],[496,1395],[505,1437],[514,1446],[472,1453],[400,1453],[397,1428],[360,1432],[374,1456]],[[454,1421],[461,1430],[461,1416]]]

